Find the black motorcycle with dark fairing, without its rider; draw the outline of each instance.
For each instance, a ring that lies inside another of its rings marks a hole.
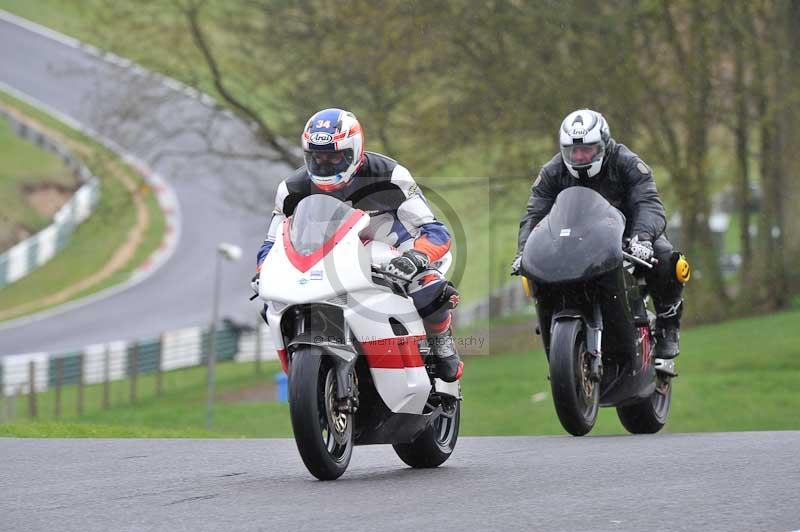
[[[642,271],[652,264],[623,251],[625,216],[603,196],[571,187],[533,229],[522,256],[535,298],[558,418],[575,436],[592,430],[600,406],[614,406],[634,434],[667,421],[672,360],[653,358],[655,315]]]

